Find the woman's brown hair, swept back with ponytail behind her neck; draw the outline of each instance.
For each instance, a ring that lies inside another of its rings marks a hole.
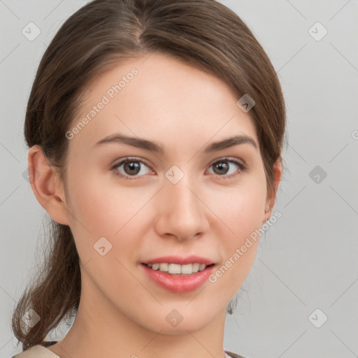
[[[123,59],[162,52],[213,74],[241,98],[255,101],[257,130],[268,192],[273,164],[281,160],[285,103],[275,70],[246,24],[215,0],[94,0],[71,15],[41,59],[24,122],[29,147],[41,145],[65,182],[69,141],[88,85]],[[80,260],[71,229],[52,221],[48,257],[22,294],[12,328],[22,349],[41,343],[80,302]],[[26,327],[33,309],[41,320]]]

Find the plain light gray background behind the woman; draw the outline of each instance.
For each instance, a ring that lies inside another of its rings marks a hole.
[[[278,71],[289,143],[274,208],[282,217],[262,237],[236,312],[227,315],[224,348],[250,358],[358,357],[358,2],[221,2]],[[0,0],[0,357],[21,351],[10,317],[45,242],[47,214],[23,177],[27,99],[46,45],[85,3]],[[29,22],[41,29],[34,41],[22,34]],[[316,22],[328,31],[320,41]]]

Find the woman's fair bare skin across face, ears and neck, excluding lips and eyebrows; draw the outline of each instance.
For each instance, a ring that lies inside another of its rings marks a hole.
[[[74,125],[118,78],[138,69],[69,140],[66,192],[41,148],[29,150],[29,168],[37,173],[34,194],[53,220],[71,227],[81,261],[78,315],[68,334],[48,348],[63,358],[224,357],[226,307],[248,275],[259,241],[215,283],[193,292],[157,286],[141,262],[193,254],[220,267],[268,220],[264,210],[274,204],[250,112],[236,105],[237,96],[219,78],[177,59],[147,57],[129,59],[90,85]],[[116,133],[155,141],[164,155],[118,143],[94,147]],[[235,134],[252,137],[257,148],[244,143],[203,153],[206,145]],[[125,157],[145,162],[136,179],[115,175],[129,176],[124,166],[111,169]],[[229,164],[227,172],[237,175],[225,179],[229,174],[213,165],[223,157],[243,161],[248,171]],[[173,165],[185,174],[175,185],[164,176]],[[279,162],[274,169],[277,189]],[[112,249],[101,256],[94,244],[103,236]],[[176,327],[166,321],[173,309],[183,317]]]

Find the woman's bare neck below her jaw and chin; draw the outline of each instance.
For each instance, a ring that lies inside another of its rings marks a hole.
[[[81,294],[71,329],[49,350],[61,358],[224,358],[226,310],[203,329],[164,334],[162,329],[143,327],[98,298]]]

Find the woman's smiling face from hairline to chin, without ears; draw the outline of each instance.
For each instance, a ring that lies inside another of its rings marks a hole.
[[[258,241],[241,248],[262,226],[266,178],[250,112],[222,80],[144,59],[90,86],[67,134],[66,206],[83,307],[180,334],[222,319],[248,275]]]

